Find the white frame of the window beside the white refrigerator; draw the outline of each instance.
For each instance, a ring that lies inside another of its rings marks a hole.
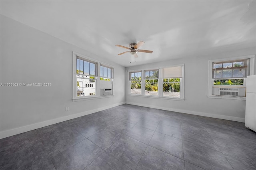
[[[214,60],[209,60],[208,61],[208,98],[246,100],[246,97],[212,95],[213,81],[215,79],[215,78],[212,78],[212,63],[222,62],[222,61],[239,60],[239,59],[250,59],[250,75],[254,75],[255,55],[245,55],[245,56],[241,56],[241,57],[230,57],[230,58],[214,59]],[[223,85],[223,87],[238,87],[238,86],[236,86],[236,85]],[[239,87],[246,87],[246,77],[244,77],[244,85],[242,85],[242,86],[240,85]]]

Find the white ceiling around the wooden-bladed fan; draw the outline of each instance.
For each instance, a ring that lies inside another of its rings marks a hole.
[[[254,0],[0,3],[2,15],[125,67],[256,47]],[[127,50],[116,44],[140,40],[154,52],[117,55]]]

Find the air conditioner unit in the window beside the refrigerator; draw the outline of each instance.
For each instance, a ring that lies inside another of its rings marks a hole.
[[[215,87],[213,95],[245,97],[245,87]]]

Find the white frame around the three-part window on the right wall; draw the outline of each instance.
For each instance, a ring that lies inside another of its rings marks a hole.
[[[180,98],[174,98],[174,97],[163,97],[163,78],[162,78],[162,69],[166,67],[177,67],[182,66],[182,78],[180,78]],[[158,96],[154,95],[145,95],[145,71],[149,70],[156,70],[158,69]],[[137,97],[147,97],[147,98],[154,98],[154,99],[167,99],[167,100],[177,100],[177,101],[184,101],[184,88],[185,88],[185,64],[178,64],[178,65],[170,65],[170,66],[164,66],[161,68],[146,68],[146,69],[136,69],[136,70],[128,70],[128,82],[129,82],[129,88],[128,88],[128,95],[130,96],[137,96]],[[131,87],[131,81],[130,81],[130,73],[132,72],[140,72],[142,74],[142,81],[141,81],[141,94],[131,94],[130,93],[130,87]]]

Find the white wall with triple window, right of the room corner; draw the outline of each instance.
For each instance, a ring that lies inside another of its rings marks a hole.
[[[253,47],[248,49],[240,49],[237,51],[230,51],[229,53],[208,54],[201,57],[191,55],[184,59],[127,67],[126,70],[140,70],[184,63],[185,100],[175,101],[126,95],[126,103],[194,115],[202,115],[244,122],[244,100],[212,99],[207,97],[208,60],[252,55],[255,53],[256,48]],[[152,55],[154,55],[154,53]],[[256,63],[254,65],[256,65]],[[254,73],[256,73],[256,71],[254,71]],[[126,71],[126,89],[129,89],[128,71]],[[126,93],[128,94],[128,90],[126,91]]]

